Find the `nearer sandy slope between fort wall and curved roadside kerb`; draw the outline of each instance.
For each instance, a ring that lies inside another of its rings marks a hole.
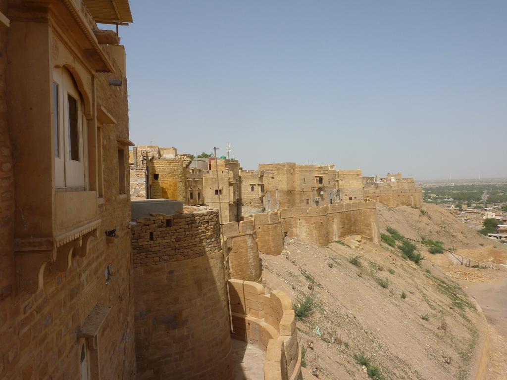
[[[315,299],[314,314],[297,324],[307,369],[317,368],[321,379],[367,379],[352,357],[364,353],[384,379],[473,378],[480,318],[461,288],[387,248],[345,242],[354,248],[291,239],[282,255],[262,256],[268,288],[295,303]],[[356,255],[361,267],[348,261]]]

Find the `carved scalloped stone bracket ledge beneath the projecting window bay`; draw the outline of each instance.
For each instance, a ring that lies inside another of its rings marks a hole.
[[[15,240],[16,282],[19,290],[35,293],[44,284],[49,263],[59,272],[70,268],[73,256],[84,257],[97,237],[101,220],[95,220],[55,237]]]

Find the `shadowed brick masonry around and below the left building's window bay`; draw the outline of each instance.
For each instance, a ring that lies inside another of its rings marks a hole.
[[[6,1],[0,9],[8,14]],[[39,13],[38,13],[39,15]],[[29,18],[28,18],[29,19]],[[19,33],[19,23],[11,19],[10,33]],[[45,20],[45,21],[41,21]],[[48,22],[43,17],[37,24]],[[28,29],[26,29],[28,30]],[[133,292],[130,288],[130,205],[128,195],[118,191],[119,136],[128,137],[127,84],[110,86],[108,80],[118,79],[117,73],[95,73],[93,87],[97,103],[106,107],[117,120],[116,125],[102,131],[104,202],[98,206],[102,220],[98,237],[88,253],[73,256],[70,268],[59,272],[49,262],[43,270],[44,285],[35,294],[16,288],[12,232],[14,196],[11,157],[23,155],[23,146],[11,144],[9,130],[19,125],[7,125],[5,64],[7,62],[6,32],[0,26],[0,378],[2,379],[80,379],[80,329],[86,317],[97,305],[110,305],[98,335],[99,370],[103,379],[133,379],[135,375],[133,339]],[[107,49],[104,47],[104,50]],[[60,52],[61,53],[61,52]],[[81,58],[84,59],[84,58]],[[114,60],[112,60],[113,64]],[[12,62],[23,65],[23,62]],[[37,68],[30,68],[37,69]],[[27,68],[28,70],[28,68]],[[41,72],[40,75],[48,75]],[[11,84],[14,85],[14,84]],[[25,84],[17,83],[17,86]],[[91,85],[91,84],[90,84]],[[49,91],[49,89],[48,89]],[[47,94],[49,97],[49,92]],[[95,106],[95,105],[94,105]],[[92,121],[94,122],[94,121]],[[51,131],[48,131],[50,133]],[[11,153],[12,149],[12,153]],[[127,171],[127,167],[125,167]],[[51,171],[40,173],[51,176]],[[114,244],[106,244],[104,230],[116,229]],[[106,284],[104,270],[110,265],[113,276]],[[93,350],[91,350],[93,353]]]

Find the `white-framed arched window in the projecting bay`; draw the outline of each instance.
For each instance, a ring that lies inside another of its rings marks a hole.
[[[53,70],[53,130],[57,188],[85,189],[85,115],[81,93],[65,68]]]

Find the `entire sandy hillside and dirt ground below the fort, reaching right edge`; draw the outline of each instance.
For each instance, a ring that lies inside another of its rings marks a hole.
[[[476,294],[490,324],[488,379],[507,378],[507,348],[501,347],[507,306],[487,290],[506,284],[507,247],[437,206],[423,210],[378,205],[381,232],[391,226],[413,239],[425,257],[419,265],[398,249],[361,237],[328,247],[288,239],[280,256],[262,256],[267,288],[283,290],[296,304],[305,296],[314,299],[313,314],[297,323],[306,378],[315,378],[310,372],[321,379],[375,378],[353,358],[364,354],[382,379],[473,379],[487,330],[469,298]],[[421,237],[441,241],[455,255],[430,254]],[[460,254],[493,268],[460,265]],[[360,256],[359,267],[349,262],[354,256]]]

